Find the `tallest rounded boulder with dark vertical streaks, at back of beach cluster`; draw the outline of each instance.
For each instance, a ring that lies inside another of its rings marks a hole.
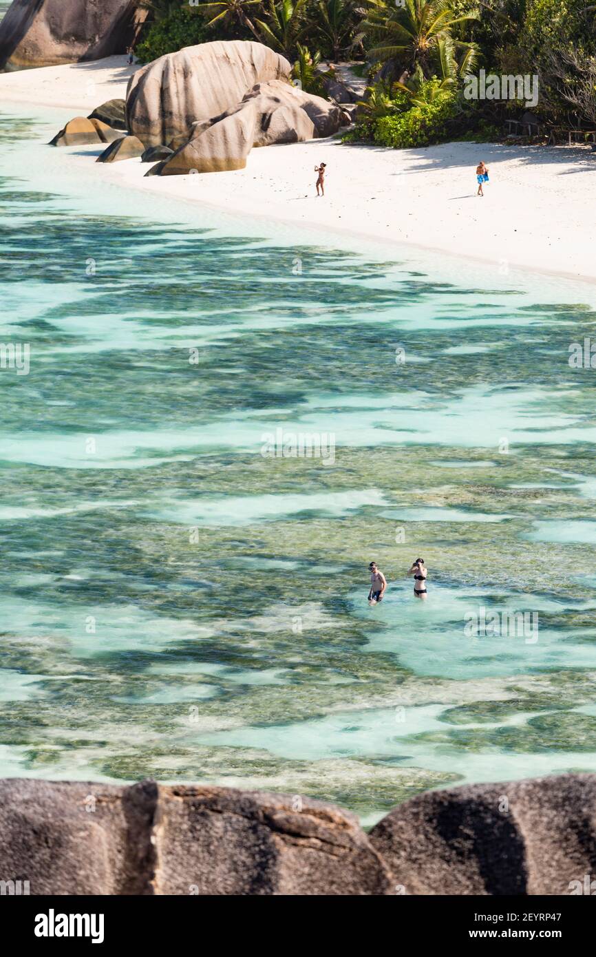
[[[251,40],[215,40],[166,54],[128,81],[127,126],[145,146],[188,139],[192,123],[232,109],[255,83],[289,80],[287,59]]]

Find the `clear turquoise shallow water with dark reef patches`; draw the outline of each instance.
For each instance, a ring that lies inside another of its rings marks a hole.
[[[49,121],[0,116],[0,342],[31,348],[0,373],[0,773],[368,822],[595,771],[594,382],[567,356],[596,289],[257,234],[101,186]],[[278,430],[335,444],[262,455]],[[466,631],[514,612],[537,630]]]

